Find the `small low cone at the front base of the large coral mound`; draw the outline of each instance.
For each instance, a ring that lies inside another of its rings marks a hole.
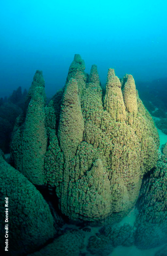
[[[75,219],[76,213],[81,212],[83,220],[88,220],[88,217],[89,220],[99,220],[108,216],[112,210],[110,194],[108,176],[103,170],[102,161],[97,159],[85,175],[76,182],[69,181],[70,218]]]

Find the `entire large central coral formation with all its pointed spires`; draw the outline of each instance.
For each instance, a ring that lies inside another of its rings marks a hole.
[[[12,159],[29,181],[56,193],[69,219],[111,224],[135,205],[142,176],[156,166],[159,137],[132,75],[119,80],[109,69],[103,95],[97,66],[90,75],[84,69],[75,55],[65,87],[45,108],[37,71],[15,125]]]

